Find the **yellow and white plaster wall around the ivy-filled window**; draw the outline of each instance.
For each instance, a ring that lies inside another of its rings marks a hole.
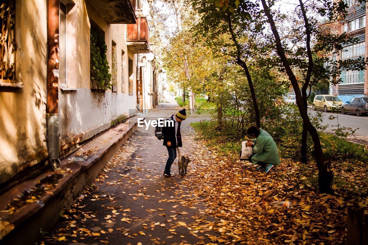
[[[107,60],[112,68],[112,41],[116,43],[117,93],[92,91],[90,82],[90,28],[98,25],[105,32]],[[128,94],[128,56],[133,60],[135,78],[136,55],[127,50],[126,25],[108,25],[88,2],[77,0],[67,15],[67,86],[73,92],[59,93],[60,148],[65,153],[96,134],[108,129],[124,117],[133,116],[136,106],[136,84]],[[123,60],[121,57],[124,52]],[[121,71],[123,62],[123,79]],[[135,81],[135,79],[134,79]]]

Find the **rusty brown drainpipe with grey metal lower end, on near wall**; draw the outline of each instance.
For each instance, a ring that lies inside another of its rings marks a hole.
[[[47,153],[54,171],[59,160],[59,13],[60,1],[47,5]]]

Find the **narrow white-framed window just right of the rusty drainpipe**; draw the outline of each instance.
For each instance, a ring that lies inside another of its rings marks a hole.
[[[67,86],[67,62],[66,62],[66,25],[67,25],[67,6],[60,1],[59,17],[59,84]]]

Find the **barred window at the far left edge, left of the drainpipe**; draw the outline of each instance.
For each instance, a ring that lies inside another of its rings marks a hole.
[[[15,3],[5,0],[0,5],[0,81],[15,80]]]

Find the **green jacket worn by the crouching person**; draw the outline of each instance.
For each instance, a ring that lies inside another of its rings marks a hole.
[[[253,153],[256,154],[252,157],[252,162],[258,163],[260,161],[262,163],[270,163],[274,166],[279,165],[280,157],[275,141],[273,141],[272,136],[262,128],[260,128],[259,131],[261,133],[256,139],[253,139]]]

